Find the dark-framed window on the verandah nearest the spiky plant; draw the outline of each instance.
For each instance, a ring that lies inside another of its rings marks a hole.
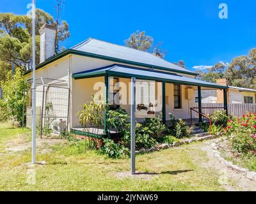
[[[118,98],[118,91],[119,91],[118,82],[119,82],[118,78],[115,78],[115,77],[111,78],[109,82],[109,101],[110,101],[109,109],[110,110],[115,110],[120,107],[119,103],[118,104],[115,103],[115,99]]]

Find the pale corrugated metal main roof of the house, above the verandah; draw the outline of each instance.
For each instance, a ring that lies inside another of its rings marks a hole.
[[[194,71],[181,68],[180,66],[165,61],[164,59],[161,59],[160,57],[157,57],[156,55],[150,54],[148,52],[135,50],[133,48],[108,43],[106,41],[101,41],[94,38],[88,38],[88,40],[85,40],[70,49],[106,57],[113,57],[125,61],[138,62],[141,64],[147,64],[152,67],[155,66],[167,68],[170,69],[170,71],[184,71],[185,73],[196,75]]]

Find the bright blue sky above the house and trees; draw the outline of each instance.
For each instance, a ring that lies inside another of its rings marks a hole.
[[[25,14],[31,1],[0,0],[0,12]],[[220,19],[220,3],[228,6],[228,19]],[[55,0],[37,0],[36,6],[56,16]],[[230,62],[256,47],[255,0],[65,0],[61,18],[70,25],[66,48],[88,37],[124,45],[136,30],[146,31],[155,45],[162,42],[165,59],[193,66]]]

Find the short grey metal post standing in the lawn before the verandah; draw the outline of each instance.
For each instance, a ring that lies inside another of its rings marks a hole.
[[[131,78],[131,174],[135,173],[135,96],[136,96],[136,78]]]

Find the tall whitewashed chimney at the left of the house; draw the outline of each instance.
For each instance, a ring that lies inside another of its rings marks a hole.
[[[55,53],[56,27],[44,24],[40,33],[40,63],[52,57]]]

